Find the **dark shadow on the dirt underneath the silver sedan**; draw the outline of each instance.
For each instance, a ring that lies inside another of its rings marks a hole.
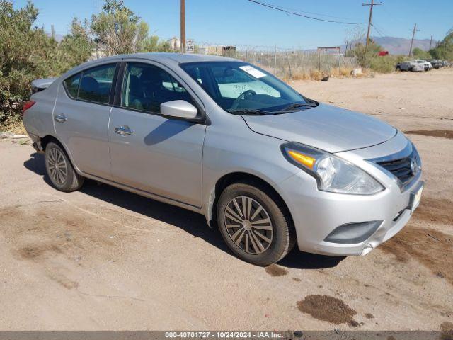
[[[34,153],[23,165],[26,169],[35,174],[43,176],[44,181],[50,185],[50,180],[45,170],[45,160],[43,154]],[[108,184],[101,184],[96,181],[87,180],[84,186],[79,189],[81,193],[104,200],[105,202],[117,205],[118,207],[137,212],[144,216],[174,225],[193,237],[200,237],[205,242],[216,246],[226,254],[234,256],[224,243],[222,235],[217,228],[210,228],[205,217],[190,210],[178,208],[174,205],[161,203],[151,198],[139,196],[129,191],[124,191]],[[309,254],[299,251],[297,246],[277,264],[287,268],[297,269],[319,269],[331,268],[336,266],[344,257],[322,256]]]

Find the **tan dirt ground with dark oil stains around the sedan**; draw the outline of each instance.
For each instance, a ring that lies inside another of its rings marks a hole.
[[[88,181],[0,141],[0,329],[440,330],[453,322],[453,69],[297,81],[306,96],[410,131],[426,188],[365,257],[236,259],[204,217]]]

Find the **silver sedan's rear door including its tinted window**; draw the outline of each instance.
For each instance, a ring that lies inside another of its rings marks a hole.
[[[86,174],[112,179],[108,122],[117,64],[101,64],[65,79],[54,110],[57,137]]]

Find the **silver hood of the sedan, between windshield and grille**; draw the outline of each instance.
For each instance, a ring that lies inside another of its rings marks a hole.
[[[319,104],[280,115],[244,115],[254,132],[288,142],[299,142],[327,152],[362,149],[396,135],[396,129],[369,115]]]

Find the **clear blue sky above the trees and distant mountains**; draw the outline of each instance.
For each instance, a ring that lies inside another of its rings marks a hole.
[[[261,0],[260,0],[261,1]],[[366,2],[369,2],[365,0]],[[378,1],[378,0],[377,0]],[[26,1],[13,1],[16,7]],[[362,0],[262,0],[275,6],[322,14],[306,13],[338,21],[367,22],[369,7]],[[411,38],[410,28],[417,23],[415,38],[440,40],[453,27],[453,0],[382,0],[375,6],[372,35]],[[71,19],[90,18],[102,0],[35,0],[40,9],[37,25],[50,31],[53,23],[59,34],[66,34]],[[150,33],[161,38],[179,35],[179,0],[125,0],[125,5],[149,23]],[[336,17],[336,18],[333,18]],[[186,36],[195,43],[297,47],[340,45],[355,26],[313,21],[287,15],[248,0],[186,0]],[[360,26],[364,30],[365,25]]]

